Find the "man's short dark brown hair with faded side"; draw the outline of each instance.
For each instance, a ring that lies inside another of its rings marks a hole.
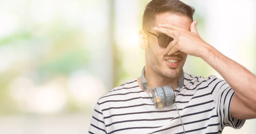
[[[143,14],[143,30],[150,30],[156,23],[156,15],[166,12],[186,15],[193,22],[195,9],[180,0],[152,0],[146,6]]]

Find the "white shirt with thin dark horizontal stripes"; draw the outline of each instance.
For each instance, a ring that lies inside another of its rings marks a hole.
[[[225,80],[185,72],[184,78],[176,104],[186,133],[221,134],[225,126],[244,125],[245,120],[231,117],[235,93]],[[137,78],[113,88],[99,98],[88,134],[183,134],[175,105],[157,108],[150,97]]]

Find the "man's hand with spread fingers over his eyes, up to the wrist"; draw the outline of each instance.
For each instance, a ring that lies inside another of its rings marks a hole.
[[[203,53],[207,53],[212,46],[199,36],[196,24],[196,20],[191,23],[190,31],[174,24],[159,24],[159,27],[155,27],[154,31],[174,38],[163,54],[172,55],[176,51],[182,51],[186,54],[202,58]]]

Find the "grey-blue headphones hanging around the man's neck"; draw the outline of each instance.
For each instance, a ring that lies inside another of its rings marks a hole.
[[[182,88],[184,81],[184,74],[183,70],[181,71],[180,78],[178,80],[178,88]],[[145,91],[148,90],[147,87],[147,80],[145,79],[145,66],[143,67],[142,73],[141,73],[141,83],[142,87],[145,89]],[[155,106],[158,108],[162,108],[163,106],[169,106],[175,103],[175,94],[173,91],[173,86],[163,86],[163,87],[156,87],[154,89],[150,88],[148,91],[152,90],[152,101]],[[179,91],[178,90],[178,91]],[[148,92],[147,91],[147,92]],[[148,93],[149,94],[149,93]]]

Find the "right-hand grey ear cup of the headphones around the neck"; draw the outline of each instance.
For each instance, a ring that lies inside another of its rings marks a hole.
[[[163,91],[165,95],[166,105],[172,105],[175,101],[175,94],[173,88],[170,86],[163,86]]]

